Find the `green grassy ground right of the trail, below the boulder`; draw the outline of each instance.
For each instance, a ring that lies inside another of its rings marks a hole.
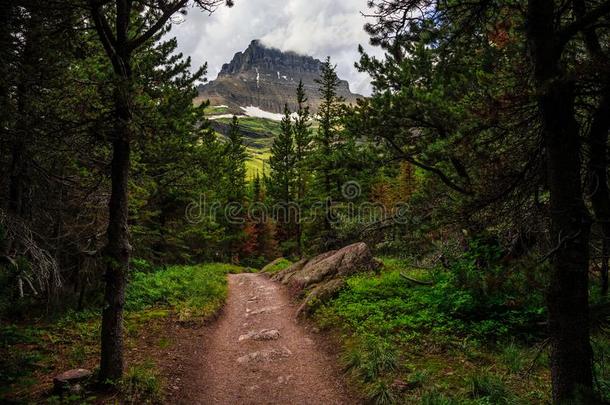
[[[475,297],[457,289],[447,272],[409,269],[398,259],[382,261],[379,275],[348,278],[347,288],[314,314],[341,342],[344,369],[370,402],[548,402],[547,369],[533,367],[523,375],[535,351],[512,342],[520,323],[494,313],[472,317]],[[434,284],[417,285],[401,273]],[[402,388],[395,381],[402,381]]]

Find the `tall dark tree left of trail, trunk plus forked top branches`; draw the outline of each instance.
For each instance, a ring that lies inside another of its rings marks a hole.
[[[90,1],[88,12],[107,60],[112,65],[113,134],[110,136],[111,193],[108,202],[108,243],[106,256],[105,306],[102,314],[100,381],[117,380],[123,374],[123,306],[131,245],[129,243],[129,177],[134,140],[132,105],[136,101],[137,71],[134,56],[184,8],[188,0],[150,4],[146,1]],[[195,4],[213,11],[218,0],[196,0]],[[227,4],[232,2],[227,0]],[[133,30],[132,27],[139,27]]]

